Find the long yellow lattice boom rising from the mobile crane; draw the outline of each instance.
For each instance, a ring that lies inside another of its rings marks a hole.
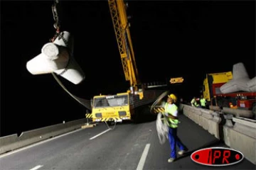
[[[122,0],[108,0],[110,14],[114,25],[114,33],[117,38],[117,45],[121,56],[124,76],[130,82],[130,86],[137,90],[139,83],[138,71],[132,47],[132,38],[129,32],[126,6]]]

